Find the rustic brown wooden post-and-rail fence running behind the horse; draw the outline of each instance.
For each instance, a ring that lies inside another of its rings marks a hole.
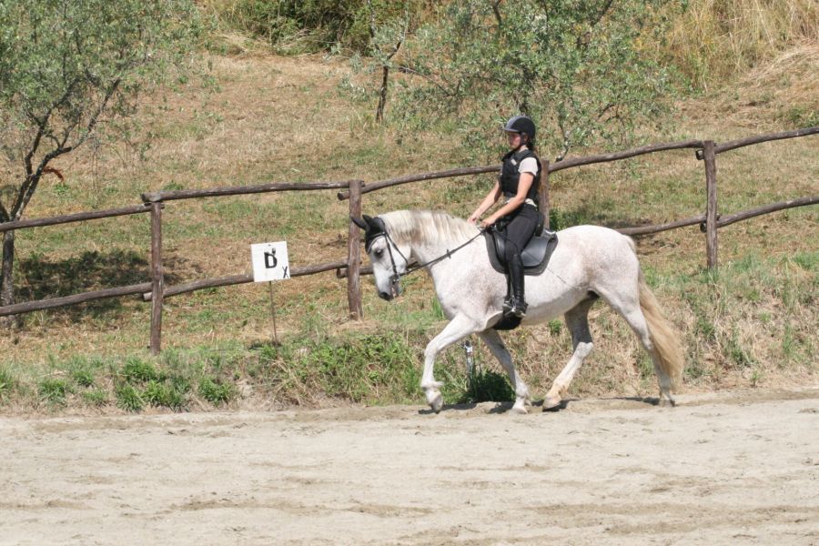
[[[733,150],[739,147],[751,146],[762,142],[780,140],[784,138],[794,138],[819,134],[819,127],[808,127],[795,131],[775,133],[773,135],[751,136],[739,140],[733,140],[717,145],[712,140],[687,140],[682,142],[672,142],[655,144],[645,147],[632,148],[622,152],[589,157],[569,157],[559,163],[543,163],[543,175],[541,176],[540,207],[549,218],[549,177],[551,173],[583,165],[618,161],[629,157],[637,157],[645,154],[652,154],[661,151],[691,148],[696,150],[697,159],[703,160],[705,166],[705,186],[706,186],[706,210],[704,215],[683,218],[674,222],[653,226],[624,227],[619,229],[627,235],[645,235],[657,233],[667,229],[686,227],[699,224],[705,232],[706,240],[706,263],[709,268],[717,265],[717,229],[744,219],[768,214],[776,210],[791,207],[803,207],[819,203],[819,196],[800,197],[772,203],[763,207],[756,207],[733,215],[721,217],[717,207],[717,178],[716,178],[716,155]],[[349,199],[349,215],[361,216],[361,201],[363,194],[379,189],[409,184],[413,182],[427,181],[449,177],[464,177],[483,173],[500,172],[500,166],[492,165],[485,167],[468,167],[450,169],[424,173],[420,175],[410,175],[407,177],[390,178],[371,184],[365,184],[362,180],[347,180],[342,182],[314,182],[314,183],[276,183],[247,187],[215,187],[208,189],[183,189],[173,191],[150,192],[143,194],[142,205],[132,207],[122,207],[110,210],[93,212],[82,212],[59,217],[35,218],[30,220],[17,220],[0,224],[0,233],[29,227],[54,226],[69,222],[85,221],[97,218],[118,217],[132,214],[149,213],[151,217],[151,280],[150,282],[130,285],[126,287],[106,288],[83,294],[76,294],[63,298],[49,298],[37,301],[29,301],[0,307],[0,316],[17,315],[40,309],[57,308],[68,305],[75,305],[100,298],[116,298],[132,294],[140,294],[144,300],[151,301],[151,352],[157,354],[161,349],[162,335],[162,305],[165,298],[184,294],[204,288],[224,287],[252,282],[250,275],[233,275],[221,278],[200,279],[174,287],[165,286],[165,277],[162,267],[162,211],[167,201],[179,199],[193,199],[202,197],[224,197],[238,196],[257,193],[270,193],[279,191],[310,191],[340,189],[337,197],[341,200]],[[311,265],[304,268],[292,268],[291,277],[312,275],[315,273],[335,270],[339,277],[348,279],[348,306],[351,319],[360,319],[361,294],[360,276],[368,272],[368,268],[361,268],[360,263],[360,233],[359,227],[349,222],[348,233],[348,256],[346,259],[339,259],[335,262]]]

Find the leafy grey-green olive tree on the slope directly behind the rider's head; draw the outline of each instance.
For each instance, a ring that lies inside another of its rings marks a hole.
[[[524,113],[559,150],[627,135],[662,111],[669,69],[646,44],[662,39],[668,0],[462,0],[405,45],[404,123],[448,120],[470,147]]]

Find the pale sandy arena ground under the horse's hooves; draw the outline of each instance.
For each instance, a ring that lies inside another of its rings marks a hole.
[[[819,545],[819,389],[0,418],[3,544]]]

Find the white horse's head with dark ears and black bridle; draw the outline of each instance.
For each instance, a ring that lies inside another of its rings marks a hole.
[[[372,264],[379,298],[390,300],[401,294],[400,278],[407,271],[409,260],[406,258],[410,249],[401,252],[398,245],[389,237],[384,220],[379,217],[349,217],[352,222],[364,230],[364,250]],[[405,254],[406,253],[406,254]]]

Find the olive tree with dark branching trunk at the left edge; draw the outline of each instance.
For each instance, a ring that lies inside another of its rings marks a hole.
[[[189,66],[201,30],[192,0],[0,0],[0,222],[24,215],[57,157]],[[6,231],[3,305],[14,302],[14,255]]]

